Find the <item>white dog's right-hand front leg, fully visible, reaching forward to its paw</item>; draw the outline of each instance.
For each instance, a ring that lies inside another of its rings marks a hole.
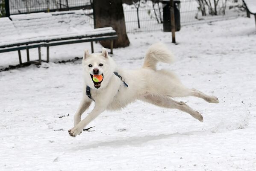
[[[69,135],[73,137],[77,136],[82,131],[82,129],[85,128],[86,125],[88,125],[92,120],[99,116],[100,113],[102,113],[105,109],[106,107],[95,104],[94,109],[85,117],[85,119],[74,126],[74,128],[68,130]]]

